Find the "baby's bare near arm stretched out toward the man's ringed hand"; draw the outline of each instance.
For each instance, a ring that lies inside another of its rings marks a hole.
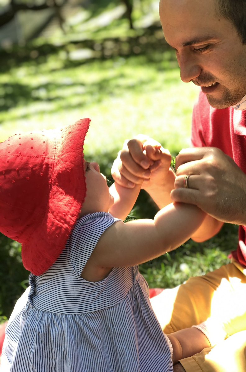
[[[204,217],[204,212],[194,205],[172,203],[161,209],[154,220],[116,222],[102,234],[87,265],[96,271],[154,259],[188,240]]]

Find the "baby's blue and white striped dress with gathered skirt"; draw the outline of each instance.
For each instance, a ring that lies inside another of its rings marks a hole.
[[[53,266],[30,274],[7,325],[1,372],[173,371],[170,341],[138,267],[115,267],[95,283],[81,278],[117,221],[105,212],[83,216]]]

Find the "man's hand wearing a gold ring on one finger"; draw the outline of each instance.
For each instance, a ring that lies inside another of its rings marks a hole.
[[[181,150],[176,169],[173,201],[195,204],[223,222],[246,225],[246,175],[223,151],[215,147]],[[190,175],[187,188],[186,174]]]

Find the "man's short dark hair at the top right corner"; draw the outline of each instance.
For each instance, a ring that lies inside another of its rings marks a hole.
[[[242,43],[246,44],[246,0],[217,0],[217,11],[231,21]]]

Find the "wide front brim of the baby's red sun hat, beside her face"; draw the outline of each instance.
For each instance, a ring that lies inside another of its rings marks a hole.
[[[54,161],[47,208],[38,227],[22,242],[22,261],[44,273],[64,249],[86,196],[83,145],[90,119],[54,131]]]

